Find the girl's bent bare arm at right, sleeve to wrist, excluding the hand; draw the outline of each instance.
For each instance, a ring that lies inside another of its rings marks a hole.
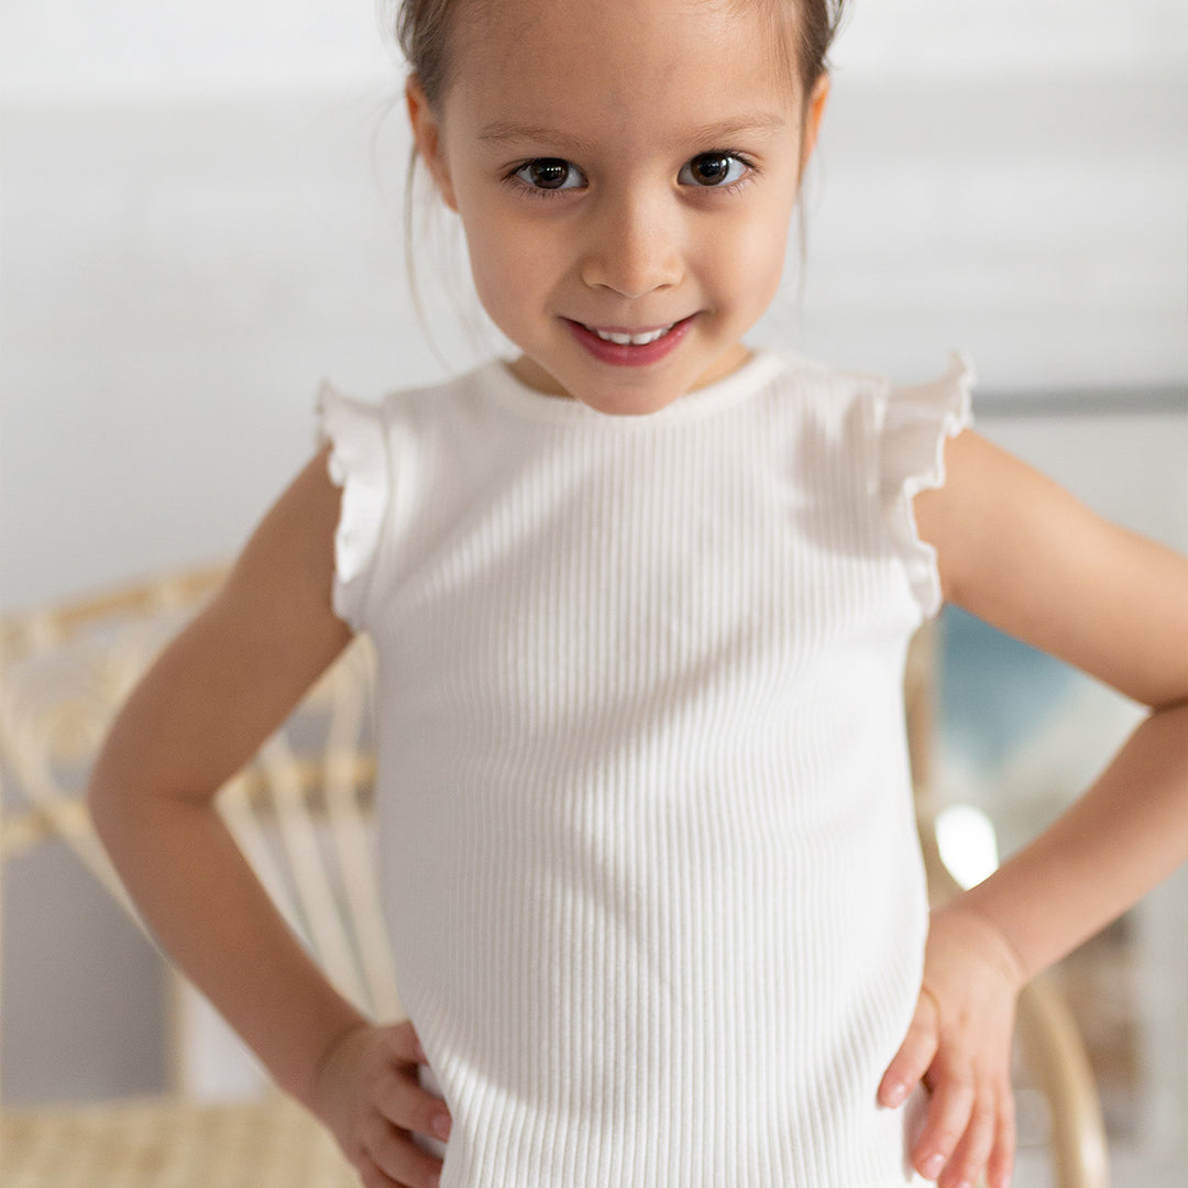
[[[1029,980],[1188,859],[1188,560],[975,434],[946,459],[949,482],[915,500],[946,599],[1151,709],[1097,783],[965,897]]]

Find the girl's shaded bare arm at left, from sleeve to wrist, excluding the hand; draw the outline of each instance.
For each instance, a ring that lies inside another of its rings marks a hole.
[[[322,1054],[364,1020],[283,923],[213,798],[350,638],[330,607],[340,493],[326,467],[322,454],[297,478],[133,691],[87,794],[156,939],[305,1104]]]

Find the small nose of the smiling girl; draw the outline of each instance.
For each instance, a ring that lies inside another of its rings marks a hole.
[[[582,254],[582,280],[638,298],[669,289],[682,277],[676,213],[663,196],[605,195],[593,211]]]

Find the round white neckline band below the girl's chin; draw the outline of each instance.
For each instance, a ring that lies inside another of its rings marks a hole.
[[[516,375],[506,359],[492,359],[484,364],[478,375],[484,388],[505,407],[533,421],[638,431],[683,424],[727,409],[773,379],[783,366],[784,361],[777,352],[759,347],[729,375],[704,387],[695,387],[655,412],[638,413],[599,412],[576,397],[539,392]]]

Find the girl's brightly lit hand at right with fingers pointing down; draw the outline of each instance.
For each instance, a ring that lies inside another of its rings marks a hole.
[[[1011,1037],[1019,961],[985,916],[961,899],[933,912],[924,977],[908,1037],[879,1086],[902,1105],[917,1082],[930,1091],[912,1167],[941,1188],[1006,1188],[1015,1161]]]

